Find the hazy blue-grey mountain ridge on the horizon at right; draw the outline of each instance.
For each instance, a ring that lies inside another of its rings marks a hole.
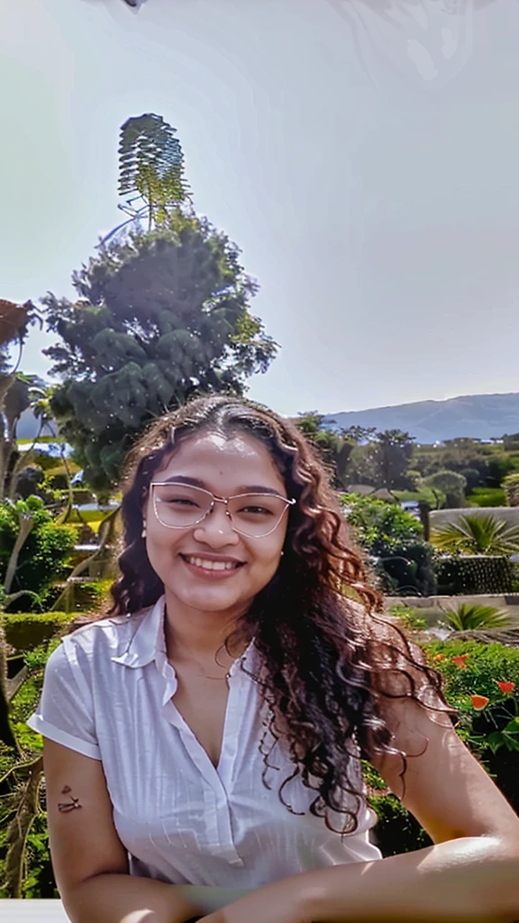
[[[419,401],[395,407],[327,414],[328,426],[376,426],[403,429],[418,443],[442,442],[468,436],[501,438],[519,433],[519,394],[471,394],[448,401]],[[335,421],[335,424],[332,424]]]

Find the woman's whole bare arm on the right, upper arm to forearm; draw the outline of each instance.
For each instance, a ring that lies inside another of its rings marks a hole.
[[[513,923],[519,919],[519,818],[446,715],[386,706],[393,744],[374,761],[434,845],[275,882],[203,923]],[[427,745],[427,747],[426,747]],[[411,754],[416,754],[415,758]]]

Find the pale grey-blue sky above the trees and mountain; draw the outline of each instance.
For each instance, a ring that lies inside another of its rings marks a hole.
[[[0,297],[73,295],[122,219],[119,126],[154,112],[283,347],[252,398],[519,391],[519,3],[447,2],[6,4]],[[50,342],[31,335],[24,371],[45,374]]]

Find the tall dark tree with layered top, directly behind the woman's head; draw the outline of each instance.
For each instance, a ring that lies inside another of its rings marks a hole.
[[[132,205],[130,228],[116,229],[74,273],[75,303],[42,299],[60,338],[45,351],[62,378],[52,409],[84,480],[102,496],[153,417],[196,393],[242,394],[277,352],[250,313],[258,286],[237,247],[191,209],[168,128],[151,115],[122,127],[120,188],[134,189],[143,205]]]

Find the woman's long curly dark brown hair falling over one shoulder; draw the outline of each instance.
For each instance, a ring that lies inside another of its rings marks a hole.
[[[226,639],[254,638],[260,655],[259,683],[268,706],[259,749],[265,762],[270,734],[283,737],[294,773],[317,796],[310,810],[346,815],[348,833],[356,830],[357,811],[344,808],[344,796],[360,804],[351,770],[358,759],[410,754],[392,747],[392,731],[380,697],[408,697],[422,707],[456,714],[445,701],[441,674],[427,665],[421,649],[391,619],[380,615],[380,593],[370,582],[364,558],[348,534],[344,513],[317,451],[289,420],[255,402],[233,396],[197,398],[155,421],[128,457],[122,503],[125,550],[121,577],[112,587],[110,615],[137,613],[163,594],[163,582],[151,568],[141,536],[144,501],[156,471],[195,433],[236,434],[259,439],[284,479],[289,509],[284,556],[272,580],[240,617]],[[437,705],[428,705],[426,692]],[[266,783],[265,783],[266,785]],[[404,785],[405,787],[405,785]]]

